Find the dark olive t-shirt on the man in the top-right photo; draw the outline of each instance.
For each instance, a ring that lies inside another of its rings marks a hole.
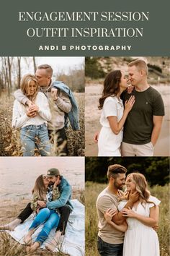
[[[135,95],[135,104],[124,124],[123,142],[143,145],[151,142],[153,116],[164,116],[164,102],[161,94],[152,87],[143,92],[133,90],[131,94],[124,91],[121,95],[123,103]]]

